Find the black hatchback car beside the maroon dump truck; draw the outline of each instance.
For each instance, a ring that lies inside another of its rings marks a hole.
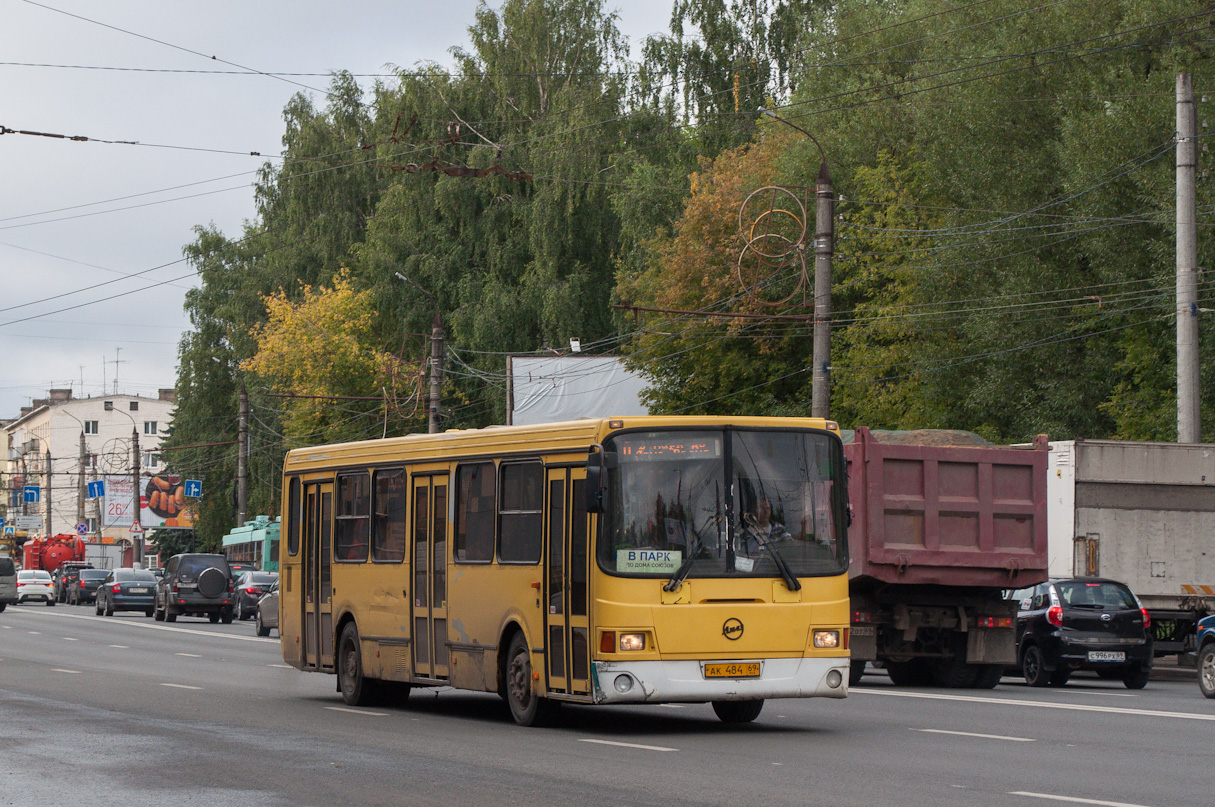
[[[1152,672],[1152,617],[1115,580],[1052,580],[1013,592],[1017,658],[1030,687],[1062,687],[1076,670],[1142,689]]]

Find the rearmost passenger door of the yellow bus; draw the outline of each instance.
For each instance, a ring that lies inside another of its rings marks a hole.
[[[333,484],[304,486],[304,666],[333,667]]]

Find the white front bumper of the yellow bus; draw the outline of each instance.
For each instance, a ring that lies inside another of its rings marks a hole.
[[[669,704],[767,698],[847,698],[848,659],[767,659],[758,678],[706,678],[705,662],[595,661],[597,704]],[[836,673],[836,675],[831,675]]]

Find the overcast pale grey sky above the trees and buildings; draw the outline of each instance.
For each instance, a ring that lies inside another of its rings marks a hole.
[[[266,73],[447,66],[476,5],[0,0],[0,126],[141,143],[0,136],[0,418],[52,386],[100,395],[117,374],[119,391],[154,396],[176,383],[193,283],[181,248],[196,225],[236,236],[253,216],[264,158],[249,152],[281,151],[282,109],[301,89],[214,73],[239,69],[216,60]],[[667,29],[669,0],[606,5],[633,56]]]

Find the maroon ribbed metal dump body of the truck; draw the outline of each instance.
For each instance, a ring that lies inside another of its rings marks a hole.
[[[1046,580],[1046,451],[984,446],[966,433],[878,438],[860,428],[844,455],[853,587]]]

